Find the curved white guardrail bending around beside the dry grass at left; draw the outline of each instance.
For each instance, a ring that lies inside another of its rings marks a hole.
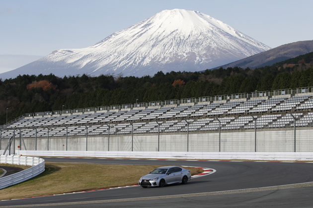
[[[0,189],[26,181],[45,171],[45,160],[29,156],[0,156],[0,163],[30,165],[32,167],[0,178]]]

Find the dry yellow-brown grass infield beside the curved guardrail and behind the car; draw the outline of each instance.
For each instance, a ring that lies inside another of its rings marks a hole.
[[[46,171],[0,190],[0,200],[62,194],[138,184],[157,165],[106,165],[46,162]],[[188,167],[192,175],[202,169]],[[18,192],[16,191],[18,190]]]

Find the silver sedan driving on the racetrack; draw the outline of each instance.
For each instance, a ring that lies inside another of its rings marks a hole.
[[[163,187],[166,184],[182,183],[186,184],[191,179],[190,170],[177,166],[158,167],[148,175],[144,175],[139,180],[139,185],[143,188],[148,186]]]

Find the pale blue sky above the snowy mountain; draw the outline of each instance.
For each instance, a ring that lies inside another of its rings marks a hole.
[[[173,8],[208,14],[271,48],[313,40],[313,0],[0,0],[0,55],[85,48]]]

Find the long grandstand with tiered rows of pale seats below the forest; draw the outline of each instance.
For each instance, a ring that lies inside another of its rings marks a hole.
[[[165,102],[27,113],[0,128],[0,138],[210,133],[309,127],[310,88]],[[2,147],[0,147],[3,149]]]

